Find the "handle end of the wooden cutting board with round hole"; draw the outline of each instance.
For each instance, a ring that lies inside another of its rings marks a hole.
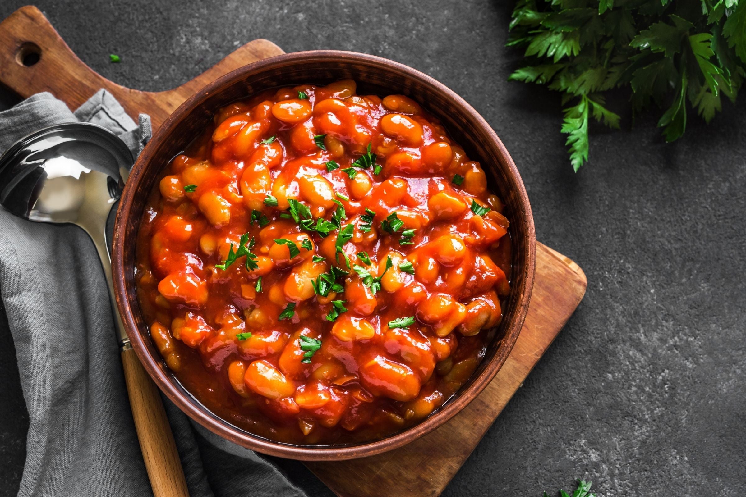
[[[278,45],[266,39],[254,39],[175,89],[141,92],[113,83],[88,67],[37,7],[21,7],[0,22],[0,83],[13,92],[23,98],[51,92],[75,110],[103,88],[114,95],[135,121],[139,113],[149,114],[154,127],[160,126],[186,98],[210,81],[245,66],[247,61],[283,53]]]

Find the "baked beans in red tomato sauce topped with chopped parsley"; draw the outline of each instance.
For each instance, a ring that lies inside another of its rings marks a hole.
[[[466,382],[510,291],[503,203],[403,95],[353,80],[228,105],[137,240],[151,337],[210,411],[286,443],[373,440]]]

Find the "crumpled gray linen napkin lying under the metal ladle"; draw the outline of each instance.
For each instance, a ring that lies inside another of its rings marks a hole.
[[[0,113],[0,153],[28,133],[70,121],[107,127],[135,154],[150,133],[147,116],[138,127],[104,90],[75,113],[40,93]],[[151,495],[104,273],[88,236],[0,207],[0,296],[30,418],[18,495]],[[192,496],[304,496],[268,461],[164,403]]]

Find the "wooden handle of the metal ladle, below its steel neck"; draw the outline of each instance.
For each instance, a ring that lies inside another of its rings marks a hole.
[[[184,469],[158,389],[134,349],[122,351],[122,367],[142,458],[155,497],[189,497]]]

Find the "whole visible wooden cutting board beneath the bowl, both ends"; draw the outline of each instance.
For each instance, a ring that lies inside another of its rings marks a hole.
[[[0,83],[22,97],[51,92],[75,109],[104,88],[137,118],[158,127],[201,86],[245,64],[282,54],[266,39],[248,42],[212,69],[166,92],[119,86],[86,66],[36,7],[22,7],[0,23]],[[136,119],[137,120],[137,119]],[[466,409],[407,446],[371,458],[306,465],[343,497],[438,496],[521,386],[586,292],[577,264],[536,244],[533,297],[521,335],[498,376]]]

